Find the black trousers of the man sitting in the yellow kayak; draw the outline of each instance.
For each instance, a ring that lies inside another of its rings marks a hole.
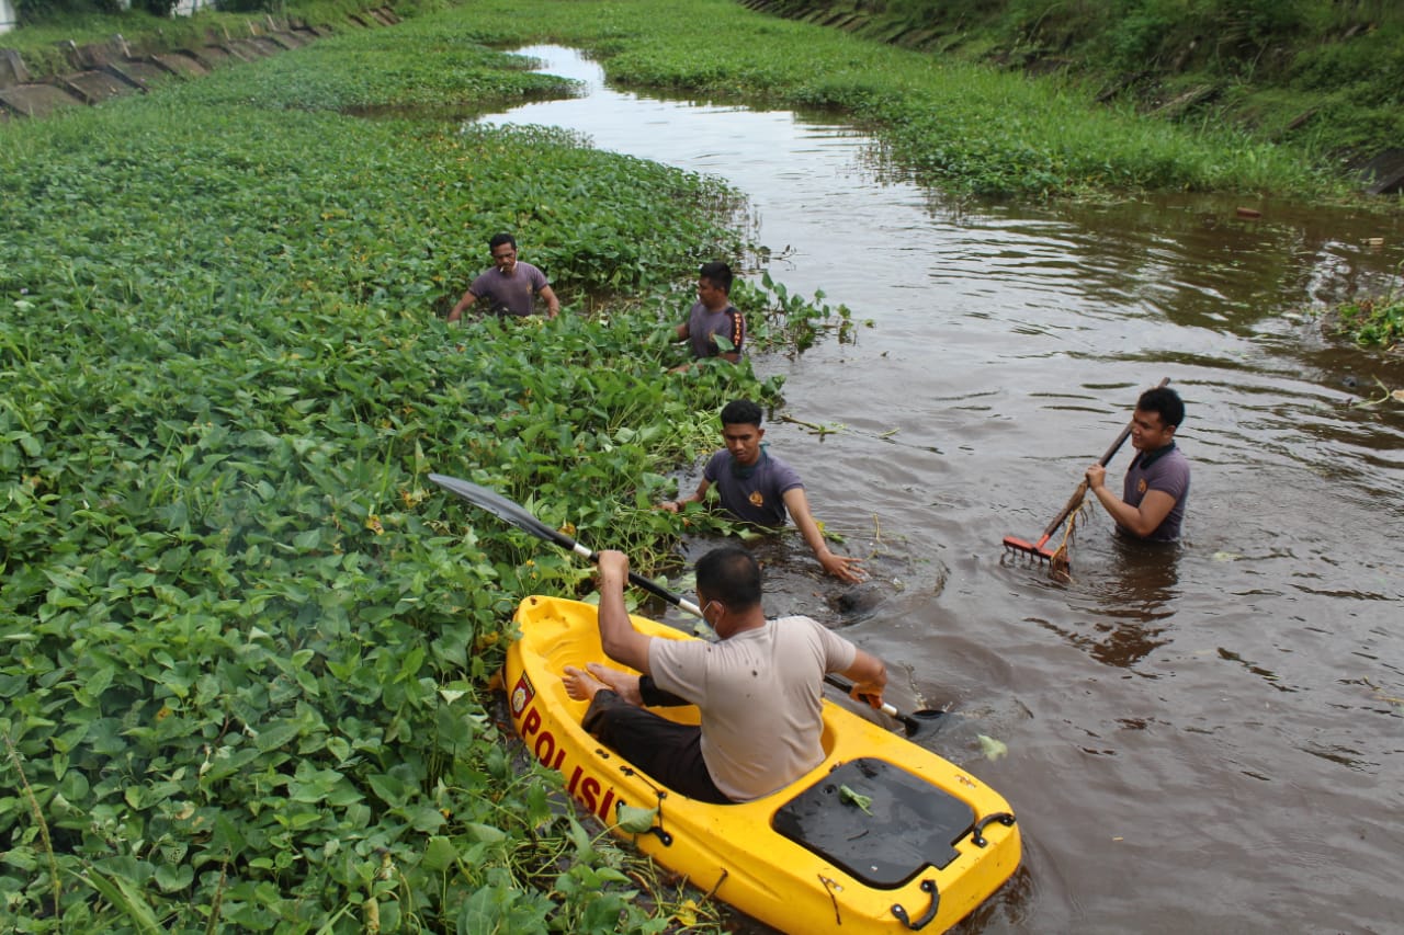
[[[685,703],[656,688],[651,692],[642,689],[640,685],[646,702],[671,699],[673,703]],[[590,702],[581,726],[673,792],[699,802],[731,803],[712,782],[712,774],[702,760],[702,729],[696,724],[668,720],[651,710],[630,705],[611,689],[602,688]]]

